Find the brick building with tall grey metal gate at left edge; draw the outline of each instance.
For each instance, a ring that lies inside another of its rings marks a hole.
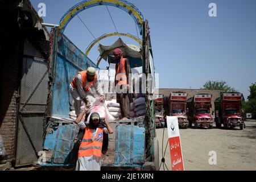
[[[43,148],[49,33],[28,0],[0,1],[0,17],[0,135],[9,164],[23,166]]]

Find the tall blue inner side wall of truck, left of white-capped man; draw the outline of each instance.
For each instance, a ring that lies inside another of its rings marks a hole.
[[[69,118],[69,84],[77,72],[96,67],[65,35],[57,36],[56,59],[53,59],[52,117]]]

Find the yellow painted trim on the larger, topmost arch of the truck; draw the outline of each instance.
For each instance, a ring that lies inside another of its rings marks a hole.
[[[99,2],[115,3],[117,5],[126,7],[127,9],[129,9],[137,17],[137,19],[139,20],[139,23],[141,25],[143,24],[143,20],[142,20],[141,16],[137,13],[137,11],[135,11],[133,9],[133,7],[126,5],[126,3],[123,3],[123,2],[120,2],[120,1],[116,1],[116,0],[101,0],[101,1],[95,0],[95,1],[86,2],[86,3],[84,3],[84,4],[80,5],[80,6],[75,7],[75,9],[73,9],[67,16],[65,16],[63,21],[60,23],[59,29],[61,30],[61,29],[64,28],[64,24],[68,21],[69,18],[72,17],[72,15],[74,15],[76,13],[76,11],[78,11],[78,10],[80,10],[80,9],[86,7],[86,6],[93,5],[93,4],[99,3]]]

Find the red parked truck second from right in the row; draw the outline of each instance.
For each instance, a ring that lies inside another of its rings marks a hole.
[[[192,126],[194,123],[195,128],[208,127],[209,129],[213,128],[213,118],[210,115],[210,108],[212,95],[211,94],[195,94],[194,97],[191,97],[187,101],[188,107],[188,121],[189,126]]]

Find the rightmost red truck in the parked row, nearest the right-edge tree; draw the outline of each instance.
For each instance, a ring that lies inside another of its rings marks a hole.
[[[223,93],[220,98],[214,102],[215,122],[217,127],[224,125],[228,127],[240,127],[243,130],[245,121],[242,117],[242,93]]]

